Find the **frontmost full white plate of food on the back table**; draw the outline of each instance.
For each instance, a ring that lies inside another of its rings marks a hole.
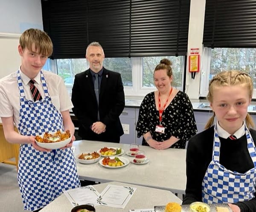
[[[129,164],[129,160],[123,157],[105,157],[99,161],[103,167],[107,168],[121,168]]]

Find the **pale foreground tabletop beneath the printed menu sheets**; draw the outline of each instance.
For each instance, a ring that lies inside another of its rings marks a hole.
[[[93,185],[93,187],[101,193],[108,184],[136,187],[137,189],[124,209],[99,205],[95,206],[96,212],[128,212],[129,209],[154,209],[154,206],[166,205],[168,202],[177,202],[178,204],[181,204],[181,200],[167,190],[141,187],[120,182],[96,184]],[[40,212],[70,212],[72,208],[73,206],[70,201],[64,194],[62,194],[41,209]]]

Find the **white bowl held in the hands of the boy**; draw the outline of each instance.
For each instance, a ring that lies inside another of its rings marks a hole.
[[[50,132],[49,134],[54,135],[56,132]],[[65,133],[65,132],[61,132],[61,133]],[[41,138],[44,138],[44,134],[39,135]],[[65,147],[68,143],[70,143],[71,139],[72,139],[72,135],[70,134],[70,137],[68,139],[65,139],[63,141],[59,141],[60,136],[52,136],[52,138],[50,138],[50,142],[48,143],[44,143],[44,142],[39,142],[35,139],[35,143],[38,144],[39,147],[43,147],[45,149],[48,150],[55,150],[55,149],[60,149],[62,147]]]

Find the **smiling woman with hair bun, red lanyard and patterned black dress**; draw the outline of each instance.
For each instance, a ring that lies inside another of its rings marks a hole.
[[[140,105],[136,126],[142,145],[157,150],[185,149],[196,134],[192,104],[186,93],[172,87],[172,62],[162,59],[154,70],[156,91],[148,93]]]

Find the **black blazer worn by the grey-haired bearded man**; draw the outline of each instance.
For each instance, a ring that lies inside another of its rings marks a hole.
[[[119,119],[125,107],[125,94],[120,73],[104,68],[99,91],[100,121],[106,125],[106,131],[93,133],[90,129],[97,122],[98,105],[94,92],[90,70],[76,74],[72,88],[73,112],[79,121],[78,135],[82,139],[94,141],[119,142],[124,134]]]

